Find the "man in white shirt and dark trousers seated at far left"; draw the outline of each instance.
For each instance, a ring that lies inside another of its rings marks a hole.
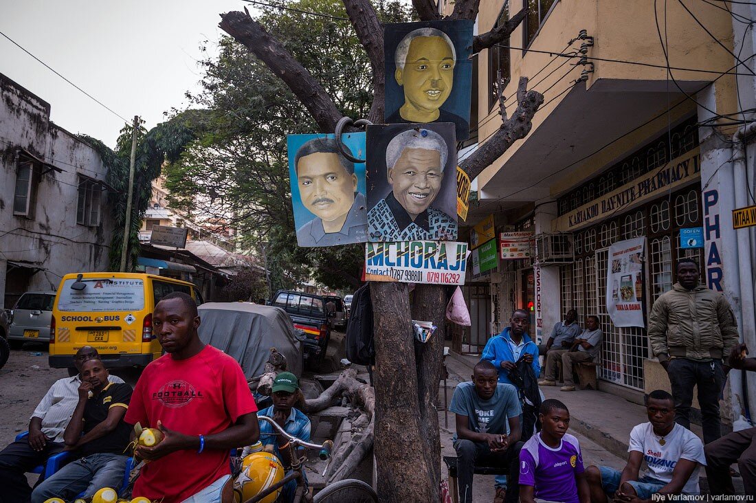
[[[73,365],[81,371],[84,362],[99,357],[97,349],[84,346],[73,357]],[[113,375],[108,380],[123,382]],[[0,451],[0,503],[30,501],[32,488],[24,474],[65,449],[63,433],[79,402],[81,383],[79,374],[55,381],[29,419],[29,436]]]

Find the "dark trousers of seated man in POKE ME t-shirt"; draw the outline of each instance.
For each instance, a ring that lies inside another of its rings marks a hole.
[[[457,484],[460,490],[460,503],[472,503],[472,471],[476,464],[481,466],[507,467],[506,503],[516,503],[519,499],[519,452],[524,442],[517,442],[504,452],[491,452],[485,442],[457,440]]]

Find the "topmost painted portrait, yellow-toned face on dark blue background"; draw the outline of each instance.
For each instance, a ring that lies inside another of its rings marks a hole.
[[[386,123],[453,123],[469,137],[472,20],[386,24]]]

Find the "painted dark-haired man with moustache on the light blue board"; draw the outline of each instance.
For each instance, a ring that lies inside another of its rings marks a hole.
[[[345,149],[352,154],[346,145]],[[296,231],[299,246],[367,241],[365,197],[357,190],[355,163],[340,153],[336,140],[306,141],[296,151],[293,166],[292,185],[296,183],[302,206],[315,216]]]

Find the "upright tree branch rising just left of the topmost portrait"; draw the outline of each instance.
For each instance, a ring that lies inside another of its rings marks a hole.
[[[373,104],[367,115],[372,123],[383,122],[386,92],[386,66],[383,56],[383,26],[369,0],[343,0],[357,37],[373,67]]]

